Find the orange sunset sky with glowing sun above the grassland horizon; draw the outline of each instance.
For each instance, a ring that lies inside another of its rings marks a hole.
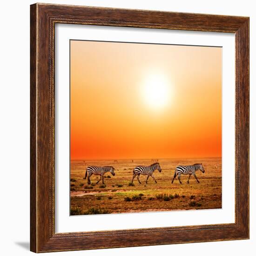
[[[221,157],[222,48],[70,41],[70,154]]]

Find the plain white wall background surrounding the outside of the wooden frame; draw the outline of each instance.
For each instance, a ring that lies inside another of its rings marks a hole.
[[[41,1],[45,2],[45,1]],[[52,3],[102,7],[152,9],[175,12],[213,13],[250,16],[250,183],[255,183],[256,90],[256,8],[255,1],[243,0],[61,0]],[[1,210],[0,241],[2,255],[28,255],[29,252],[29,5],[34,1],[9,1],[1,3],[0,40],[0,156],[1,156]],[[254,124],[253,124],[254,122]],[[256,244],[256,187],[250,188],[250,240],[213,243],[192,243],[137,248],[101,249],[79,252],[61,252],[56,255],[139,255],[179,254],[232,256],[254,255]]]

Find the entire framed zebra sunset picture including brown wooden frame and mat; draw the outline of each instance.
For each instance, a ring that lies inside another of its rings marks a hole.
[[[31,250],[249,238],[249,18],[31,5]]]

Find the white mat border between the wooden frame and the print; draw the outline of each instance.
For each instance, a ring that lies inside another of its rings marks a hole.
[[[55,27],[55,230],[58,233],[235,222],[235,36],[131,27]],[[222,46],[222,209],[69,216],[69,39]],[[232,64],[230,64],[232,63]],[[154,221],[152,221],[154,220]]]

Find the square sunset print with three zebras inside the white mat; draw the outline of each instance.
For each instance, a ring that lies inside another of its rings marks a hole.
[[[70,40],[70,215],[222,208],[222,47]]]

